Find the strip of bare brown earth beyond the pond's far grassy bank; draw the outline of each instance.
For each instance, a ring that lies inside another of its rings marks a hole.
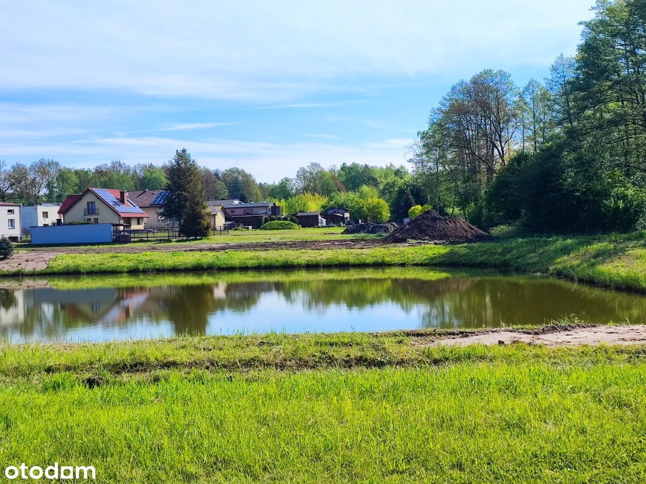
[[[19,250],[14,256],[0,261],[0,270],[43,270],[49,261],[59,254],[138,254],[140,252],[220,252],[222,250],[272,250],[272,249],[309,249],[324,250],[326,248],[367,248],[376,247],[380,239],[357,240],[302,240],[249,243],[130,243],[128,245],[96,245],[92,247],[52,247],[28,248]],[[405,245],[405,244],[404,244]]]

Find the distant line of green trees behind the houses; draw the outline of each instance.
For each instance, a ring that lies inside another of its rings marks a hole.
[[[29,205],[60,202],[68,194],[81,193],[87,187],[161,190],[169,187],[169,173],[174,170],[175,161],[173,158],[159,166],[130,166],[111,161],[92,169],[68,168],[45,158],[31,165],[8,166],[0,161],[0,200]],[[350,208],[356,218],[386,221],[405,217],[408,208],[415,205],[412,194],[421,193],[419,183],[406,166],[343,163],[340,168],[323,168],[310,163],[299,168],[295,177],[284,177],[277,183],[259,183],[249,172],[236,167],[212,170],[197,165],[196,170],[207,200],[272,200],[282,205],[286,214],[336,206]]]

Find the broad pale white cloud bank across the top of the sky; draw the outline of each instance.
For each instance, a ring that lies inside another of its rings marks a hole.
[[[8,2],[0,88],[280,101],[374,77],[546,66],[572,50],[590,3]]]

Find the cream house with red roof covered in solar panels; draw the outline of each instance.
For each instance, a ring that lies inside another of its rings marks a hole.
[[[68,195],[58,214],[64,223],[111,223],[133,229],[143,228],[149,218],[128,192],[109,188],[87,188],[81,194]]]

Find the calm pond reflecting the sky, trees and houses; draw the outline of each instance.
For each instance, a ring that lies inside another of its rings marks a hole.
[[[646,323],[646,297],[438,268],[52,277],[0,288],[0,336],[15,342],[542,325],[570,314]]]

